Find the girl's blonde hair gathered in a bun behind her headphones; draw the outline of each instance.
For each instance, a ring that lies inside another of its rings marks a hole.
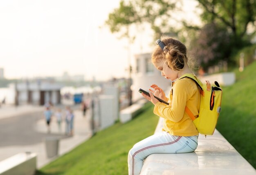
[[[151,55],[152,62],[164,61],[174,71],[183,69],[185,62],[188,62],[186,46],[179,40],[162,36],[164,51],[156,45]]]

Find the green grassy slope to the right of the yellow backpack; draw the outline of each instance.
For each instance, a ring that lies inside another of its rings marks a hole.
[[[256,62],[235,73],[236,83],[223,88],[217,129],[256,168]]]

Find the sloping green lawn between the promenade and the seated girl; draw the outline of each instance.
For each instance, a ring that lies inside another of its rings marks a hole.
[[[73,151],[41,168],[36,175],[127,175],[128,151],[132,146],[153,135],[159,117],[153,104],[126,124],[117,123],[100,131]]]

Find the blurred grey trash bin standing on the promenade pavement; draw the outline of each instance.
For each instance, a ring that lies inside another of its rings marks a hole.
[[[58,142],[58,137],[45,138],[45,149],[48,158],[58,155]]]

